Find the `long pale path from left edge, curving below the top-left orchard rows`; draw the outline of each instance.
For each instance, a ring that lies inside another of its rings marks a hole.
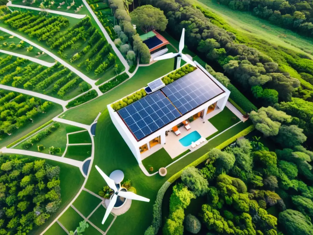
[[[93,89],[95,89],[98,93],[98,95],[102,95],[102,92],[99,90],[99,87],[95,85],[95,80],[92,80],[90,79],[89,77],[87,77],[85,74],[83,74],[82,72],[80,72],[79,70],[75,69],[72,65],[69,65],[68,63],[66,63],[64,60],[60,59],[58,56],[54,55],[51,51],[39,46],[38,44],[36,43],[33,43],[32,41],[24,38],[23,36],[17,34],[17,33],[14,33],[8,29],[5,29],[3,27],[0,27],[0,30],[2,30],[3,32],[6,32],[8,34],[11,34],[15,37],[18,37],[20,39],[22,39],[23,41],[37,47],[39,50],[42,50],[44,53],[50,55],[54,60],[57,60],[58,62],[60,62],[62,65],[64,65],[65,67],[67,67],[69,70],[71,70],[72,72],[74,72],[75,74],[77,74],[78,76],[80,76],[84,81],[88,82]],[[114,43],[113,43],[114,44]]]

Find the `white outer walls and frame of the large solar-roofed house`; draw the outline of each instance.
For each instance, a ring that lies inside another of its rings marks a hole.
[[[196,61],[195,61],[196,62]],[[217,106],[223,110],[226,102],[228,100],[230,91],[227,90],[227,88],[225,86],[223,86],[219,81],[217,81],[211,74],[209,74],[200,64],[198,64],[196,62],[196,64],[198,65],[199,68],[201,68],[201,70],[206,73],[213,81],[215,81],[216,84],[218,84],[218,86],[220,86],[225,92],[218,95],[217,97],[209,100],[206,103],[203,103],[202,105],[200,105],[199,107],[195,108],[194,110],[186,113],[185,115],[183,115],[180,118],[177,118],[176,120],[174,120],[173,122],[165,125],[164,127],[160,128],[159,130],[157,130],[156,132],[148,135],[147,137],[141,139],[140,141],[137,142],[136,138],[132,135],[131,131],[127,128],[126,124],[123,122],[123,120],[121,119],[121,117],[118,115],[117,112],[115,112],[112,107],[111,104],[107,105],[107,108],[109,110],[109,114],[110,117],[112,119],[112,122],[114,123],[116,129],[119,131],[119,133],[121,134],[122,138],[125,140],[126,144],[128,145],[128,147],[131,149],[131,152],[134,154],[135,158],[137,159],[138,164],[141,164],[141,156],[140,156],[140,151],[139,151],[139,147],[144,145],[144,144],[148,144],[149,141],[151,141],[152,139],[161,136],[161,144],[165,144],[166,143],[166,137],[165,137],[165,132],[167,130],[172,129],[172,127],[178,125],[179,123],[181,123],[182,121],[186,120],[187,118],[191,117],[192,115],[201,112],[202,110],[207,110],[208,107],[211,104],[214,104],[215,102],[217,102]],[[114,102],[113,102],[114,103]],[[206,112],[204,113],[204,115],[206,114]],[[149,146],[149,144],[148,144]]]

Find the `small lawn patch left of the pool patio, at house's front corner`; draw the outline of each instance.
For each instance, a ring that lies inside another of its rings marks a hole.
[[[161,167],[166,167],[172,162],[173,159],[164,148],[156,151],[154,154],[151,154],[149,157],[142,160],[142,164],[150,174],[158,171]],[[149,171],[150,165],[153,167],[153,171]]]

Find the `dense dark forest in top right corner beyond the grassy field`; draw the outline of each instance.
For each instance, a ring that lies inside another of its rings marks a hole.
[[[273,24],[313,37],[313,1],[218,0],[233,10],[250,11]]]

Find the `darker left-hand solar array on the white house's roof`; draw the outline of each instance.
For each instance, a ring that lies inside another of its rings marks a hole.
[[[117,111],[137,140],[182,116],[161,91]]]

